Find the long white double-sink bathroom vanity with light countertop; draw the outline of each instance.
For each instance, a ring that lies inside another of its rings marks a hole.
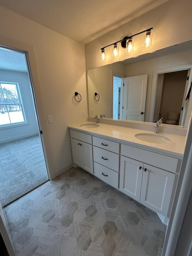
[[[157,212],[166,224],[184,152],[184,136],[92,122],[71,125],[69,129],[74,164]],[[138,135],[152,141],[158,137],[165,143],[143,141]]]

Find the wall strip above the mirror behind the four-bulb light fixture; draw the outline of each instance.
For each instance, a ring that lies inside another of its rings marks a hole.
[[[124,6],[122,8],[128,7]],[[93,40],[85,45],[86,69],[99,67],[191,40],[191,9],[191,0],[183,0],[182,2],[180,0],[169,0],[163,5]],[[100,49],[102,47],[151,27],[153,27],[152,47],[148,49],[143,48],[143,34],[141,34],[134,37],[134,53],[128,56],[125,53],[125,49],[119,47],[119,58],[113,59],[111,47],[108,47],[106,48],[107,61],[100,61]]]

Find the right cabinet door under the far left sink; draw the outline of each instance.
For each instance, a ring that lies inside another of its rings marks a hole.
[[[92,145],[81,141],[82,168],[93,174],[93,150]]]

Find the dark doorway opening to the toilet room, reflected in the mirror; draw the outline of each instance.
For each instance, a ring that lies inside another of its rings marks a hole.
[[[175,125],[184,125],[185,96],[190,69],[158,74],[153,122],[162,119],[166,124],[168,113],[178,113]]]

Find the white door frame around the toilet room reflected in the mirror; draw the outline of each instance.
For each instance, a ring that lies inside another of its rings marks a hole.
[[[179,66],[156,69],[156,70],[153,71],[151,102],[150,102],[150,109],[149,109],[149,122],[153,122],[153,114],[154,114],[154,107],[155,107],[155,96],[156,96],[158,74],[170,73],[170,72],[175,72],[175,71],[182,71],[182,70],[187,70],[187,69],[192,70],[192,63],[185,64],[185,65],[179,65]],[[187,89],[189,89],[191,80],[192,80],[192,72],[190,72]],[[186,122],[186,120],[190,119],[191,111],[192,111],[192,101],[189,101],[188,110],[187,110],[185,120],[184,120],[184,126],[181,126],[181,127],[188,128],[188,122]],[[164,125],[166,125],[166,124],[164,124]]]

